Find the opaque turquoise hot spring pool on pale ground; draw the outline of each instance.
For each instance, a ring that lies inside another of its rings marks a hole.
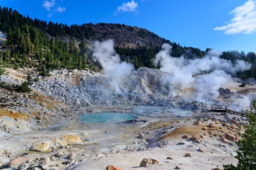
[[[117,123],[134,119],[134,116],[128,113],[89,113],[79,118],[80,123]]]

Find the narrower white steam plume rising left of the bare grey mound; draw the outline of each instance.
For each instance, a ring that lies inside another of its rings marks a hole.
[[[121,62],[119,54],[115,52],[113,39],[103,42],[95,41],[92,51],[93,60],[98,61],[103,68],[103,74],[109,76],[109,85],[114,88],[116,93],[121,93],[119,85],[122,83],[124,75],[134,69],[133,65]]]

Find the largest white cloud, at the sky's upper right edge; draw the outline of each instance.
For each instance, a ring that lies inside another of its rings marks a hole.
[[[228,25],[216,27],[214,30],[225,30],[225,34],[249,34],[256,31],[256,1],[249,0],[233,11],[234,18]]]

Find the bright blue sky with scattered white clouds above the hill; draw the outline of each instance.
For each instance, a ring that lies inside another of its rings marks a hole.
[[[182,46],[256,52],[256,0],[1,0],[32,19],[120,23]]]

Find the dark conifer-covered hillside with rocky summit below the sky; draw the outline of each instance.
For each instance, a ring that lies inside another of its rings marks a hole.
[[[90,48],[95,40],[114,39],[121,60],[132,62],[136,69],[153,68],[151,60],[163,43],[172,45],[172,56],[183,55],[187,59],[202,58],[210,50],[181,46],[136,26],[106,23],[68,26],[51,21],[47,23],[1,6],[0,30],[7,34],[1,46],[0,66],[16,69],[24,66],[38,67],[43,72],[54,68],[99,70],[100,66],[90,60]],[[221,57],[232,62],[242,59],[252,63],[250,70],[237,75],[242,78],[256,77],[254,52],[245,54],[243,51],[228,51],[223,52]]]

